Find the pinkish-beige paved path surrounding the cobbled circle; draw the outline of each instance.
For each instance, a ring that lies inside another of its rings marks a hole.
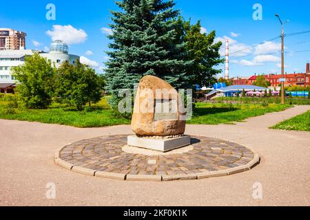
[[[88,177],[54,165],[65,144],[111,134],[130,126],[77,129],[0,120],[0,206],[310,206],[310,133],[268,127],[305,111],[299,106],[250,118],[237,125],[189,125],[187,133],[230,140],[260,153],[253,170],[191,181],[136,182]],[[56,199],[46,185],[56,184]],[[262,199],[253,186],[262,185]]]

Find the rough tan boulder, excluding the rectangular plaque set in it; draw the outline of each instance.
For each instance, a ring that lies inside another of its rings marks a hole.
[[[169,96],[158,94],[158,89],[161,89],[163,94],[169,93]],[[158,120],[161,117],[156,117],[154,108],[156,100],[167,99],[176,103],[176,115],[172,117],[174,119],[170,118],[169,120],[169,115],[165,115],[162,118],[166,120]],[[138,85],[132,115],[132,130],[137,135],[167,136],[183,134],[185,132],[185,120],[180,120],[183,114],[178,109],[179,104],[178,92],[169,83],[155,76],[145,76]]]

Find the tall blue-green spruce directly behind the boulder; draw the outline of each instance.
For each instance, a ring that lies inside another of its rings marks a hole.
[[[184,59],[185,43],[178,39],[174,1],[116,1],[121,11],[112,11],[113,33],[107,52],[107,91],[112,93],[112,107],[117,106],[119,89],[133,89],[146,75],[167,80],[174,87],[189,87],[187,74],[191,61]]]

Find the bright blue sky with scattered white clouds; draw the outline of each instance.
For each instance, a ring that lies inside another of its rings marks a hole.
[[[45,19],[48,3],[56,6],[55,21]],[[253,19],[255,3],[262,5],[262,20]],[[104,66],[110,10],[118,10],[113,0],[4,1],[2,6],[6,10],[1,10],[0,27],[26,32],[28,49],[44,50],[53,37],[63,38],[70,43],[71,54],[83,56],[98,70]],[[176,8],[185,19],[200,19],[207,32],[216,30],[216,41],[229,37],[230,76],[280,73],[280,39],[267,41],[280,35],[280,23],[274,14],[290,20],[285,26],[287,34],[310,30],[309,1],[177,0]],[[299,51],[310,50],[310,33],[287,36],[285,45],[285,71],[304,72],[310,52]],[[223,65],[220,68],[224,69]]]

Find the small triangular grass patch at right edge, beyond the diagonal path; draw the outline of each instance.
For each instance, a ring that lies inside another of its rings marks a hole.
[[[310,131],[310,111],[302,115],[298,115],[295,118],[280,122],[276,126],[273,126],[272,129]]]

